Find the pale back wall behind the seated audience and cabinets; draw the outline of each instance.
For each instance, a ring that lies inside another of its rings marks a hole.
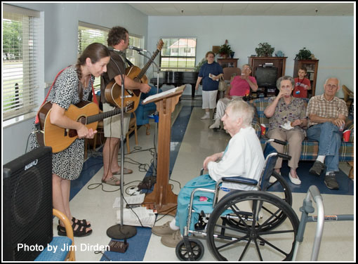
[[[286,74],[293,75],[294,58],[302,48],[319,60],[316,95],[323,93],[328,77],[354,88],[354,18],[343,16],[176,16],[149,17],[148,49],[161,37],[196,37],[197,63],[212,46],[229,41],[239,67],[256,54],[260,42],[283,51]],[[158,59],[156,61],[159,61]],[[342,91],[338,92],[343,97]]]

